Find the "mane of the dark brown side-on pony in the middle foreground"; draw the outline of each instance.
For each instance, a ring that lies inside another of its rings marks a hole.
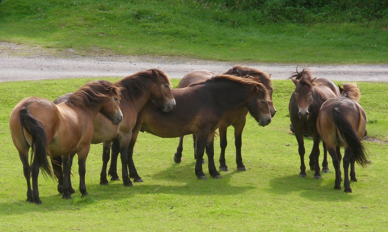
[[[256,85],[262,91],[263,97],[265,98],[265,100],[270,100],[268,89],[265,87],[265,85],[263,85],[263,83],[261,83],[257,80],[253,80],[250,78],[243,78],[243,77],[234,76],[234,75],[230,75],[230,74],[221,74],[221,75],[212,76],[211,78],[209,78],[205,82],[222,81],[222,80],[227,80],[227,81],[239,83],[246,88],[253,88]]]

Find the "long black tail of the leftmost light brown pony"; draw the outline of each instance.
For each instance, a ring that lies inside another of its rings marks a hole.
[[[47,159],[47,136],[42,123],[29,113],[27,106],[22,107],[19,112],[23,128],[32,136],[31,161],[35,154],[36,162],[40,164],[40,168],[52,177],[49,159]]]

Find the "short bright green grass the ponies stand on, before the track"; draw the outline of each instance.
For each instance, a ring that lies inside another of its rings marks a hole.
[[[107,78],[117,80],[117,78]],[[334,190],[334,173],[322,179],[299,178],[298,147],[289,131],[288,100],[293,83],[274,80],[277,113],[260,127],[248,117],[243,133],[242,158],[248,171],[234,163],[232,130],[222,179],[197,180],[192,139],[185,137],[182,163],[173,162],[178,139],[142,133],[134,161],[144,183],[124,187],[121,182],[99,185],[100,144],[92,145],[87,159],[86,185],[90,196],[81,199],[76,162],[72,182],[76,194],[62,200],[52,179],[39,178],[42,205],[25,202],[22,165],[10,139],[9,114],[19,100],[40,96],[54,100],[92,78],[15,81],[0,83],[0,221],[1,231],[385,231],[388,213],[386,143],[366,142],[372,164],[356,166],[353,193]],[[172,80],[176,86],[178,80]],[[342,84],[341,82],[336,82]],[[358,83],[369,121],[367,131],[388,140],[386,102],[388,83]],[[215,140],[216,164],[219,139]],[[288,145],[289,144],[289,145]],[[305,139],[307,153],[312,141]],[[322,149],[321,149],[322,150]],[[329,159],[330,160],[330,159]],[[119,173],[121,168],[119,167]]]

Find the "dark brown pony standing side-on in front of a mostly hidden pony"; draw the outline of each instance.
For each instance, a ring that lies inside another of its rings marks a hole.
[[[268,125],[271,121],[268,91],[258,81],[232,75],[219,75],[186,88],[172,89],[171,92],[177,107],[170,113],[159,111],[150,102],[139,112],[132,131],[129,162],[139,131],[164,138],[195,134],[197,178],[206,180],[202,170],[205,149],[211,177],[221,178],[214,164],[213,138],[214,131],[223,116],[231,111],[248,108],[259,125]],[[133,162],[129,164],[129,171],[130,176],[137,176]]]

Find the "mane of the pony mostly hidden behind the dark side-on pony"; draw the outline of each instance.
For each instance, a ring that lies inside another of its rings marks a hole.
[[[261,71],[260,69],[249,68],[242,65],[233,66],[223,74],[229,74],[234,76],[240,76],[244,78],[251,78],[256,81],[260,81],[265,87],[272,89],[271,77]]]

